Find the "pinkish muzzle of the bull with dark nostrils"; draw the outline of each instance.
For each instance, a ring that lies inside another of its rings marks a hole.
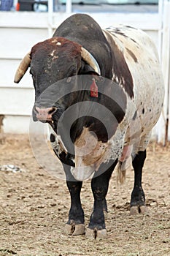
[[[51,107],[51,108],[39,108],[34,107],[34,114],[39,121],[52,121],[53,120],[53,114],[56,112],[57,108]]]

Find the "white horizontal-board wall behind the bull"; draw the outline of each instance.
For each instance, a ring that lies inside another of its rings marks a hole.
[[[143,29],[159,45],[161,28],[159,15],[154,14],[90,14],[106,28],[114,23],[125,23]],[[49,38],[53,30],[67,18],[66,13],[55,13],[49,19],[47,13],[0,13],[0,115],[4,115],[4,132],[26,133],[34,103],[34,89],[27,72],[19,85],[13,83],[15,70],[23,56],[39,41]],[[148,22],[149,20],[149,22]]]

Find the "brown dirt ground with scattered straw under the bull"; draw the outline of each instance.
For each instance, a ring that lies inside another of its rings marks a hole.
[[[151,143],[144,165],[143,188],[149,214],[130,216],[134,173],[117,185],[113,173],[107,195],[107,238],[89,240],[64,231],[70,198],[65,181],[40,167],[27,135],[6,135],[0,166],[18,165],[23,172],[0,171],[0,255],[170,255],[170,144]],[[90,181],[82,188],[85,225],[93,196]]]

